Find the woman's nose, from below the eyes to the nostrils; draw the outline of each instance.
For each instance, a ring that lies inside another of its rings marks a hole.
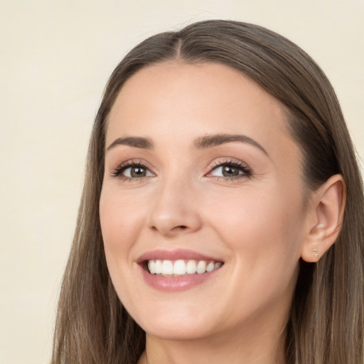
[[[196,189],[186,181],[166,181],[154,191],[149,228],[165,237],[196,232],[202,226]]]

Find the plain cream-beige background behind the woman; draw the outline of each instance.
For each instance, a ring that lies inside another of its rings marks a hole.
[[[43,364],[103,87],[146,36],[203,18],[295,41],[335,87],[364,156],[364,0],[0,0],[0,364]]]

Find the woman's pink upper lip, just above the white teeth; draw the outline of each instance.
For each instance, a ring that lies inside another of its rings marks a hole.
[[[217,259],[215,257],[209,257],[208,255],[200,254],[199,252],[195,252],[193,250],[185,250],[185,249],[176,249],[176,250],[151,250],[150,252],[146,252],[141,255],[137,259],[137,263],[140,264],[145,262],[146,260],[177,260],[177,259],[194,259],[194,260],[206,260],[208,262],[223,262],[221,259]]]

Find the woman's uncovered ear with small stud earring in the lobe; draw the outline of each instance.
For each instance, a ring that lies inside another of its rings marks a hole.
[[[346,183],[341,174],[328,178],[314,192],[309,205],[307,234],[302,245],[301,258],[318,262],[333,245],[343,224],[346,203]]]

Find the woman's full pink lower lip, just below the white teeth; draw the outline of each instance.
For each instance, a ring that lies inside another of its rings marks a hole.
[[[193,287],[203,284],[208,279],[212,278],[216,272],[221,269],[214,269],[211,272],[205,272],[202,274],[186,274],[181,277],[164,277],[159,274],[150,274],[144,267],[141,267],[143,277],[149,286],[159,291],[186,291]]]

